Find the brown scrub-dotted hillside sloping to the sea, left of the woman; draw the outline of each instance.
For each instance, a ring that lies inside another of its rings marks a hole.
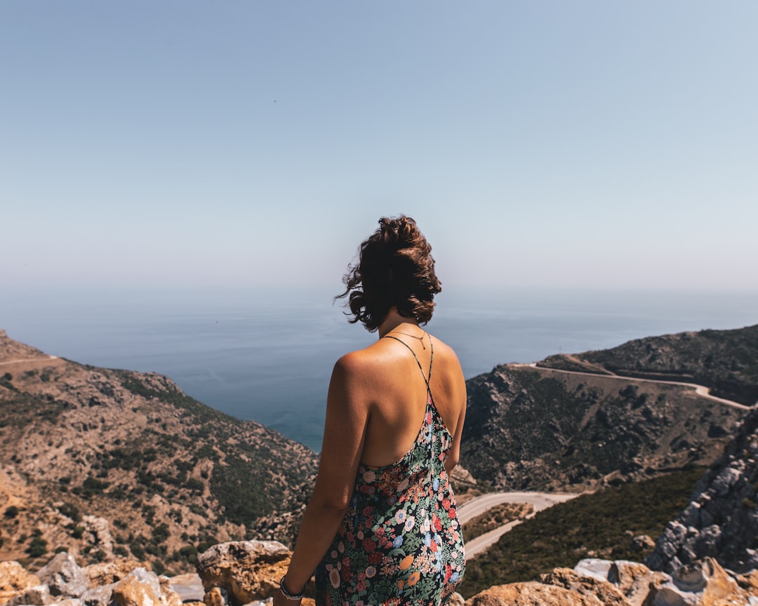
[[[155,373],[54,358],[0,331],[0,560],[189,570],[233,538],[287,542],[317,457]],[[46,555],[45,555],[46,554]]]

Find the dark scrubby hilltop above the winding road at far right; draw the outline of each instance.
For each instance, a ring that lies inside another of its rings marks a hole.
[[[602,351],[553,355],[541,367],[700,383],[713,395],[758,403],[758,324],[651,336]]]

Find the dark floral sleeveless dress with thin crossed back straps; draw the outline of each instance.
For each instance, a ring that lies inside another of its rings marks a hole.
[[[317,606],[447,604],[465,570],[463,536],[444,461],[453,442],[429,378],[424,423],[406,455],[360,465],[349,510],[316,569]]]

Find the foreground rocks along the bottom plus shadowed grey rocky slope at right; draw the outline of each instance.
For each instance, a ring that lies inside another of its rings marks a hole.
[[[590,559],[536,581],[493,586],[466,606],[758,606],[758,411],[741,423],[691,503],[659,538],[647,564]],[[277,591],[290,551],[274,541],[213,545],[199,554],[202,589],[184,603],[262,604]],[[79,567],[65,551],[33,574],[0,563],[0,606],[180,606],[186,578],[158,576],[129,559]],[[655,569],[655,570],[653,570]],[[465,583],[465,579],[464,579]],[[307,588],[312,596],[312,587]],[[202,598],[202,602],[200,599]],[[312,598],[304,601],[312,604]]]

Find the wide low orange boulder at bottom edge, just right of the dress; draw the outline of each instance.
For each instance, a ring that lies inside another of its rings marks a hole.
[[[465,602],[465,606],[603,606],[593,596],[542,583],[510,583],[490,587]]]

